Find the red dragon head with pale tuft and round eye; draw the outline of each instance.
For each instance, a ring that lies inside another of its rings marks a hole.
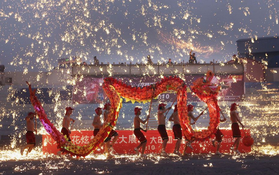
[[[211,70],[208,70],[206,77],[201,77],[190,86],[192,91],[204,102],[211,97],[217,97],[221,86],[217,85],[218,79]]]

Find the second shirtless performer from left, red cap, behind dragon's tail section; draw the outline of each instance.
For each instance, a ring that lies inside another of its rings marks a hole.
[[[67,136],[68,141],[71,141],[71,139],[70,139],[71,131],[69,130],[70,122],[72,121],[74,123],[76,121],[70,117],[70,115],[73,113],[73,110],[74,109],[71,107],[66,107],[66,113],[65,113],[65,116],[64,116],[63,122],[62,122],[61,133],[63,135]],[[61,157],[61,151],[58,151],[57,154],[58,154],[58,156]]]

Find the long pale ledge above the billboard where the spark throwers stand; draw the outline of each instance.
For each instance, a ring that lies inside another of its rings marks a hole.
[[[243,64],[99,64],[74,65],[72,75],[87,76],[142,76],[142,75],[204,75],[208,70],[215,74],[243,74]]]

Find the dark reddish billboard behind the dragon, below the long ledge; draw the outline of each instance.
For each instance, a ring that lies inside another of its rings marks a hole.
[[[184,76],[187,87],[193,85],[193,81],[202,76]],[[143,87],[156,82],[161,78],[159,76],[130,76],[116,77],[132,86]],[[224,101],[241,101],[244,94],[244,81],[242,75],[220,75],[217,76],[221,84],[220,100]],[[107,96],[102,89],[103,78],[83,77],[81,81],[76,82],[73,87],[73,104],[90,104],[107,102]],[[174,91],[167,91],[159,95],[158,100],[162,102],[173,102],[176,98]],[[196,95],[187,93],[187,99],[190,102],[199,102]],[[125,103],[125,100],[123,100]]]

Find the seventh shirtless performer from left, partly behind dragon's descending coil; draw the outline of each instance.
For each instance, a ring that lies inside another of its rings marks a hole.
[[[179,148],[182,140],[182,131],[181,131],[181,126],[178,118],[177,104],[174,105],[173,114],[170,116],[169,121],[173,121],[174,124],[173,134],[174,134],[174,138],[177,139],[173,153],[178,156],[181,156],[181,153],[179,152]]]

